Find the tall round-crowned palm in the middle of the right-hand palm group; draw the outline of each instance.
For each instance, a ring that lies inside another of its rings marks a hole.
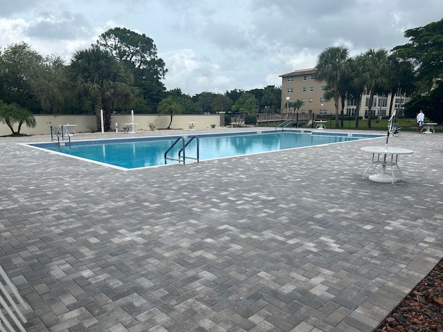
[[[375,93],[383,93],[390,86],[390,75],[392,66],[388,60],[388,51],[379,48],[370,48],[361,57],[361,84],[369,92],[368,101],[368,129],[371,129],[372,103]]]

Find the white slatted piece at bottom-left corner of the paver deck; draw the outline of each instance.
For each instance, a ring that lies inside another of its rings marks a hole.
[[[0,266],[0,332],[26,332],[21,325],[26,323],[26,318],[21,313],[20,306],[24,310],[29,308]]]

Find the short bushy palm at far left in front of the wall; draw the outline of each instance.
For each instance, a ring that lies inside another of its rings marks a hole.
[[[0,121],[6,124],[12,131],[12,135],[20,135],[22,124],[26,124],[29,128],[37,125],[33,113],[19,104],[5,104],[0,100]],[[14,124],[17,123],[17,131],[14,130]]]

